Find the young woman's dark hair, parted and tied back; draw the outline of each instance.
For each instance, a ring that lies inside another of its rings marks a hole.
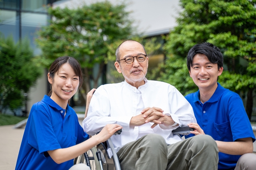
[[[66,63],[70,64],[70,66],[74,70],[76,76],[79,77],[79,86],[78,86],[78,90],[79,90],[83,83],[83,74],[82,74],[82,69],[81,69],[79,62],[76,59],[74,59],[73,57],[68,57],[68,56],[58,57],[51,64],[51,66],[48,70],[48,73],[50,73],[49,75],[53,80],[55,73],[56,72],[58,73],[60,67]],[[52,95],[52,84],[50,84],[50,92],[48,93],[48,96],[51,96],[51,95]]]

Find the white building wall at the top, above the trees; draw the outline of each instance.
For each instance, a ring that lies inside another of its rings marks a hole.
[[[104,0],[62,0],[53,4],[60,8],[78,8],[83,4]],[[120,0],[108,0],[112,4],[118,4]],[[125,0],[128,3],[127,11],[132,11],[130,17],[135,20],[134,26],[138,27],[140,32],[146,35],[152,35],[155,32],[168,32],[176,26],[175,17],[181,10],[179,0]]]

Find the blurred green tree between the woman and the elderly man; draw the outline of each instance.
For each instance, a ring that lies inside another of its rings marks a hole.
[[[52,20],[38,32],[36,41],[42,49],[44,65],[49,66],[57,57],[67,55],[80,61],[86,75],[80,89],[85,100],[87,92],[98,87],[98,79],[108,61],[108,45],[127,39],[134,31],[125,7],[125,4],[114,6],[104,1],[77,9],[49,8]],[[96,65],[99,69],[95,75]]]

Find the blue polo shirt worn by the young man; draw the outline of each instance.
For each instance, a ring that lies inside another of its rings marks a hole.
[[[202,104],[200,92],[185,97],[191,104],[198,125],[204,133],[216,141],[233,142],[237,139],[251,137],[255,141],[252,126],[238,94],[223,88],[218,83],[212,97]],[[185,136],[192,137],[193,134]],[[219,152],[218,170],[234,170],[240,155]]]

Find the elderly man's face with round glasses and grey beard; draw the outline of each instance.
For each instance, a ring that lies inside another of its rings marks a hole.
[[[142,45],[136,41],[126,41],[120,46],[120,59],[125,59],[129,56],[137,56],[139,54],[146,55]],[[127,64],[124,60],[120,63],[115,63],[116,69],[119,73],[122,72],[126,82],[134,86],[136,83],[143,81],[148,70],[148,57],[143,62],[138,62],[136,57],[132,64]],[[144,81],[143,81],[144,83]]]

